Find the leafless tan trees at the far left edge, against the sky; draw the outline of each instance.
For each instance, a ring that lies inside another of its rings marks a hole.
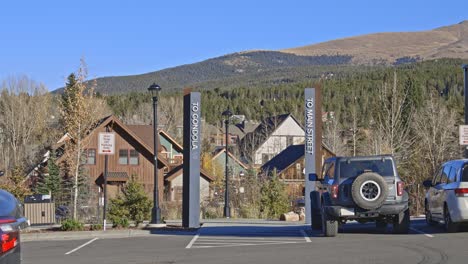
[[[0,90],[1,165],[27,168],[34,162],[40,147],[37,141],[47,127],[51,97],[43,84],[26,76],[8,78]]]

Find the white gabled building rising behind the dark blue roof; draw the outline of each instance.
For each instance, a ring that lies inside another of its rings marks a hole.
[[[292,114],[266,118],[240,141],[242,160],[259,167],[288,146],[304,143],[304,128]]]

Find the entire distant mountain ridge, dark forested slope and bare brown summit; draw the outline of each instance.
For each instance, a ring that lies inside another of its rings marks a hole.
[[[240,51],[159,71],[95,80],[101,94],[145,91],[153,82],[165,90],[252,87],[318,79],[345,66],[391,66],[439,58],[468,59],[468,20],[432,30],[372,33],[279,51]]]

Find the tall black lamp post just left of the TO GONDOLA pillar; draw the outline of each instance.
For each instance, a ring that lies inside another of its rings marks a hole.
[[[148,87],[153,97],[153,139],[154,139],[154,191],[153,209],[151,210],[150,224],[161,223],[161,209],[159,208],[159,182],[158,182],[158,96],[161,87],[155,83]]]

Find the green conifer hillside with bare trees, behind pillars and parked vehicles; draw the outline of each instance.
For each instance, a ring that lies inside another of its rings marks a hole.
[[[221,124],[226,108],[253,120],[289,112],[303,120],[304,88],[320,85],[323,111],[329,113],[326,144],[339,155],[393,154],[411,185],[430,177],[444,160],[461,157],[457,126],[463,120],[462,64],[444,59],[348,72],[319,82],[204,90],[202,115],[211,124]],[[148,94],[106,100],[126,122],[151,120]],[[174,133],[182,123],[181,92],[163,93],[160,105],[161,123]]]

